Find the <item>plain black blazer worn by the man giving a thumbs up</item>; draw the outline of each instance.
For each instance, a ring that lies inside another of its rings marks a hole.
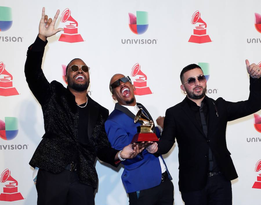
[[[182,192],[201,190],[206,185],[209,146],[224,176],[229,180],[238,177],[226,146],[226,125],[228,121],[261,109],[261,79],[250,78],[250,95],[246,101],[233,103],[222,98],[205,98],[208,103],[208,136],[204,135],[186,99],[166,110],[158,153],[166,154],[176,138],[179,147],[179,188]]]

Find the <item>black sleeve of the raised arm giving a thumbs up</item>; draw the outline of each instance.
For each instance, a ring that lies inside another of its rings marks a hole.
[[[245,101],[225,101],[228,121],[251,115],[261,109],[261,78],[251,78],[249,98]]]

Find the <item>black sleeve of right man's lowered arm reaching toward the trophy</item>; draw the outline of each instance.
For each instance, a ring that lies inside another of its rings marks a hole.
[[[173,113],[170,109],[166,110],[164,119],[164,129],[161,133],[160,141],[158,142],[157,155],[164,155],[172,148],[175,143],[176,124],[173,118]]]

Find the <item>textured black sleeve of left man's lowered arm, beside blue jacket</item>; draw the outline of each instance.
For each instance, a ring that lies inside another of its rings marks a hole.
[[[97,139],[97,157],[108,164],[111,164],[112,166],[119,166],[119,162],[115,162],[115,156],[119,150],[116,150],[111,147],[107,134],[105,132],[104,123],[109,115],[109,111],[106,110],[103,114],[101,114],[101,130]]]

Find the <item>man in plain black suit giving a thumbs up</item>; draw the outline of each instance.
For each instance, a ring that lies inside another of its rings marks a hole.
[[[261,109],[261,71],[249,65],[249,99],[229,102],[205,95],[206,79],[196,64],[183,68],[180,88],[185,99],[166,110],[158,154],[179,147],[179,188],[186,205],[232,204],[231,180],[238,177],[226,146],[226,124]],[[225,80],[225,76],[219,80]],[[232,81],[240,82],[234,77]],[[157,120],[159,124],[159,119]]]

